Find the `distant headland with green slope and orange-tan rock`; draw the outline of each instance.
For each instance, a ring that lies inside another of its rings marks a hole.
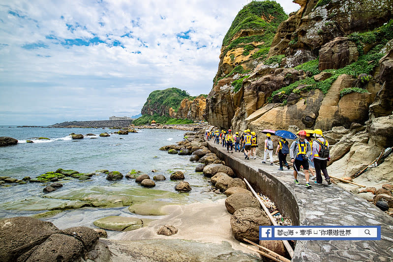
[[[202,120],[206,96],[190,96],[178,88],[155,90],[142,108],[142,115],[170,116],[172,118]]]

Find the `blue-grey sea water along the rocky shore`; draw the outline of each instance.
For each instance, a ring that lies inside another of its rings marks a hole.
[[[182,194],[186,201],[183,203],[204,202],[217,199],[217,195],[209,188],[208,178],[195,173],[199,163],[189,162],[189,156],[168,154],[159,148],[171,145],[183,139],[185,131],[174,129],[141,129],[138,133],[128,135],[114,134],[117,130],[94,128],[39,128],[39,127],[9,127],[0,126],[0,136],[8,136],[18,140],[15,146],[0,147],[0,176],[10,176],[22,179],[25,176],[34,178],[48,171],[59,168],[72,169],[80,173],[91,173],[99,169],[119,171],[123,175],[132,169],[140,170],[150,175],[165,175],[165,181],[156,181],[154,189]],[[100,133],[108,132],[110,137],[99,137]],[[73,140],[71,133],[83,134],[81,140]],[[95,136],[86,136],[92,133]],[[46,137],[49,140],[39,140]],[[92,139],[94,138],[94,139]],[[26,143],[31,140],[33,143]],[[157,170],[157,173],[152,173]],[[174,187],[178,181],[171,181],[169,176],[174,170],[184,172],[185,181],[189,182],[192,190],[189,193],[179,193]],[[90,180],[78,179],[60,181],[64,184],[58,191],[78,189],[89,186],[119,186],[141,188],[134,179],[123,178],[120,181],[108,181],[106,175],[93,175]],[[1,204],[18,204],[29,197],[44,197],[42,191],[46,184],[27,183],[12,184],[10,187],[0,186]],[[56,192],[58,192],[56,191]],[[3,205],[4,206],[4,205]],[[26,208],[25,208],[26,209]],[[2,208],[0,217],[32,215],[47,210],[20,210]],[[55,217],[46,219],[56,226],[91,226],[94,219],[106,215],[130,215],[124,208],[79,208],[64,211]],[[73,223],[74,222],[74,223]]]

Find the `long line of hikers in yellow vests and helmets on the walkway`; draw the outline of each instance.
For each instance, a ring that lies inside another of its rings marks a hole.
[[[227,152],[233,153],[233,147],[235,152],[243,152],[244,158],[249,159],[250,157],[256,159],[256,147],[258,147],[257,135],[255,132],[251,132],[249,129],[244,130],[240,135],[239,132],[232,133],[232,130],[228,131],[218,130],[214,132],[206,132],[207,139],[213,139],[214,143],[222,146],[226,146]],[[273,134],[274,135],[274,134]],[[321,129],[310,130],[308,133],[305,130],[301,130],[298,133],[299,138],[294,140],[289,146],[288,141],[279,137],[278,145],[275,150],[275,154],[278,155],[278,161],[280,168],[278,170],[283,171],[285,166],[288,170],[290,169],[287,163],[287,155],[289,154],[291,162],[294,167],[294,183],[299,184],[298,172],[303,167],[305,176],[305,186],[310,188],[309,178],[311,173],[311,179],[315,179],[315,184],[322,185],[323,178],[322,174],[328,184],[331,184],[330,177],[327,171],[327,162],[330,160],[329,154],[329,143],[324,138]],[[315,140],[312,140],[312,135],[315,135]],[[264,159],[262,163],[266,164],[267,157],[269,155],[270,165],[273,165],[273,141],[272,134],[267,133],[264,145]],[[314,170],[315,169],[315,172]]]

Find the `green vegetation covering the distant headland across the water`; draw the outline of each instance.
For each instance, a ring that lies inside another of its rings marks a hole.
[[[155,90],[149,94],[149,97],[143,107],[154,108],[173,108],[175,112],[178,111],[180,107],[180,102],[184,98],[189,98],[190,95],[179,88],[171,87],[165,90]],[[142,109],[143,110],[143,109]]]

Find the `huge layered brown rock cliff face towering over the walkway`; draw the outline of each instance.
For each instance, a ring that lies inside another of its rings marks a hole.
[[[330,130],[392,114],[392,60],[380,59],[393,47],[393,0],[295,2],[301,8],[275,30],[266,56],[243,59],[244,70],[233,68],[227,56],[239,52],[223,41],[207,99],[209,123],[235,130]],[[238,16],[247,11],[246,5]],[[245,32],[256,33],[241,28],[234,37]],[[228,73],[231,68],[236,72]]]

